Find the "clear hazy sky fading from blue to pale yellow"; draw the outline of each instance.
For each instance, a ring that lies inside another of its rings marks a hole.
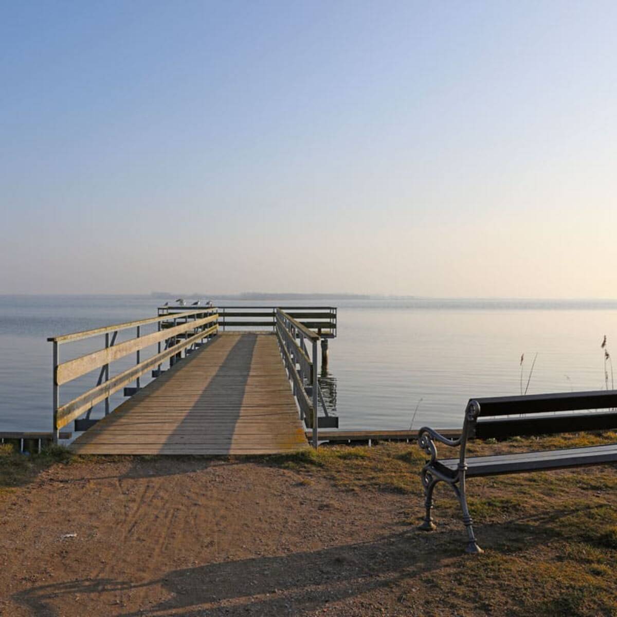
[[[617,297],[616,27],[0,0],[0,293]]]

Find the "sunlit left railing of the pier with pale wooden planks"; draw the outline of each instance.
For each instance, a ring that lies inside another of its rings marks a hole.
[[[149,324],[157,324],[157,331],[141,335],[141,328]],[[135,328],[135,338],[116,343],[118,332]],[[52,343],[53,360],[53,425],[54,442],[57,443],[59,430],[83,413],[91,412],[94,405],[105,401],[105,413],[109,413],[109,397],[131,382],[136,382],[136,388],[125,388],[125,394],[132,394],[139,390],[139,378],[149,371],[152,376],[161,373],[164,360],[169,359],[173,365],[181,353],[188,353],[195,347],[213,336],[218,331],[218,309],[202,307],[196,310],[183,310],[173,315],[159,315],[136,321],[127,321],[104,328],[95,328],[63,336],[52,336],[48,341]],[[105,336],[105,347],[86,355],[82,355],[66,362],[60,362],[60,346],[89,339],[96,336]],[[157,353],[147,360],[141,360],[141,350],[144,347],[157,345]],[[110,378],[109,365],[129,354],[136,354],[135,366],[128,368]],[[73,381],[91,371],[99,369],[96,386],[78,395],[76,398],[60,404],[60,386]],[[156,369],[156,370],[154,370]],[[131,392],[127,392],[131,391]]]

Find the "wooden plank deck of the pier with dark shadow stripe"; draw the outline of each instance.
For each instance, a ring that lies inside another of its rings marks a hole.
[[[308,447],[274,334],[218,334],[143,387],[72,449],[262,454]]]

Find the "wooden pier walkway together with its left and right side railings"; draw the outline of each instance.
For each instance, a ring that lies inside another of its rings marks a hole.
[[[292,452],[308,447],[305,426],[317,445],[319,426],[333,426],[335,418],[328,417],[317,380],[321,336],[281,309],[271,314],[273,331],[267,332],[220,333],[218,310],[208,308],[51,337],[54,433],[75,420],[75,430],[86,431],[70,447],[88,454]],[[157,331],[143,334],[146,325]],[[137,336],[116,343],[118,332],[130,328]],[[59,361],[61,344],[102,335],[103,349]],[[141,350],[153,345],[157,352],[142,360]],[[136,365],[110,377],[110,363],[133,353]],[[164,371],[165,360],[170,367]],[[60,386],[93,371],[96,386],[60,404]],[[150,371],[155,379],[141,387],[140,376]],[[126,387],[131,381],[136,387]],[[120,389],[130,398],[110,412],[109,396]],[[105,416],[91,418],[102,402]]]

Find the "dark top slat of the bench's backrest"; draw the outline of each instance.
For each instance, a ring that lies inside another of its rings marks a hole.
[[[574,412],[583,409],[617,407],[617,391],[557,392],[555,394],[499,396],[472,400],[477,400],[480,404],[480,416]]]

